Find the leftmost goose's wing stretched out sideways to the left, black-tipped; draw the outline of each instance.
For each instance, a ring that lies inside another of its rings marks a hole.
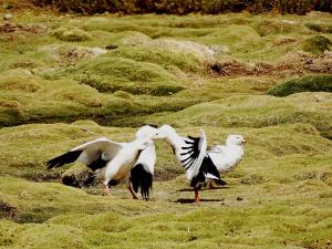
[[[85,164],[92,170],[103,168],[123,148],[121,143],[106,137],[84,143],[70,152],[46,162],[48,168],[61,167],[73,162]]]

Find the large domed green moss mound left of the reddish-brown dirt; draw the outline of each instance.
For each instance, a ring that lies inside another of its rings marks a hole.
[[[178,92],[184,87],[162,66],[124,58],[100,58],[62,72],[71,73],[81,84],[100,92],[125,91],[132,94],[165,95],[164,89]]]

